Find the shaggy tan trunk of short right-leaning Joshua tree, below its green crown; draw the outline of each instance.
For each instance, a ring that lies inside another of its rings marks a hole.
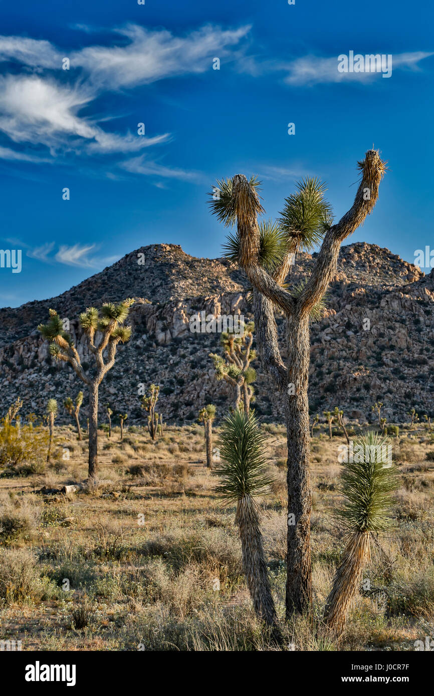
[[[327,598],[325,620],[338,635],[343,631],[364,567],[371,558],[370,537],[370,532],[355,532],[351,536]]]

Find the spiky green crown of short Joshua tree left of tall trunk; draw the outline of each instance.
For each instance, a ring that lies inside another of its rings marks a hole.
[[[224,418],[214,473],[220,478],[215,492],[226,502],[236,503],[243,496],[268,492],[273,479],[267,473],[265,440],[253,411],[247,416],[237,409]]]

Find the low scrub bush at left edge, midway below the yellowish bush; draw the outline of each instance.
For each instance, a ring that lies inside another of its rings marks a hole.
[[[0,538],[3,542],[28,538],[36,530],[39,518],[40,506],[33,498],[1,495]]]

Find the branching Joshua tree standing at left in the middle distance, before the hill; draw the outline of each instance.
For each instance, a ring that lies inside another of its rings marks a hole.
[[[95,358],[93,374],[86,374],[75,349],[72,338],[63,331],[61,317],[54,310],[49,310],[49,322],[40,324],[38,329],[42,336],[50,342],[50,352],[56,360],[63,360],[72,365],[79,378],[89,389],[89,478],[95,480],[98,473],[98,388],[104,375],[113,367],[116,348],[119,343],[130,340],[131,327],[124,326],[128,311],[134,300],[126,299],[115,304],[107,302],[100,310],[88,308],[80,315],[80,323],[86,333],[88,348]],[[100,339],[95,342],[95,334]],[[104,356],[107,362],[104,363]]]

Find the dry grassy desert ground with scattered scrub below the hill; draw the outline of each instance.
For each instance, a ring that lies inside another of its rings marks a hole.
[[[286,432],[267,433],[270,493],[261,523],[279,644],[261,630],[241,569],[235,506],[213,492],[203,427],[145,427],[99,433],[97,488],[61,493],[87,477],[87,439],[55,427],[49,464],[0,475],[0,635],[22,650],[373,650],[410,651],[434,633],[434,435],[401,424],[391,437],[400,486],[395,528],[375,539],[346,632],[328,633],[322,614],[345,535],[339,498],[339,429],[311,439],[312,570],[309,616],[284,621]],[[367,424],[348,425],[357,435]],[[372,426],[371,426],[372,427]],[[40,431],[45,431],[40,426]],[[215,427],[215,445],[219,429]],[[69,459],[67,458],[69,457]]]

